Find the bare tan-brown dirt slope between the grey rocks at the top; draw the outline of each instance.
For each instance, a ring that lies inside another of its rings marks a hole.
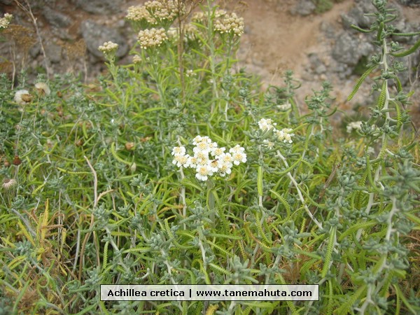
[[[321,23],[339,27],[340,15],[346,13],[354,1],[335,3],[328,12],[306,17],[290,14],[290,8],[296,3],[297,0],[248,1],[248,8],[241,13],[248,30],[241,39],[241,54],[246,64],[263,66],[271,74],[270,83],[275,84],[288,69],[299,75],[302,64],[307,63],[308,53],[323,53],[329,49],[320,43]]]

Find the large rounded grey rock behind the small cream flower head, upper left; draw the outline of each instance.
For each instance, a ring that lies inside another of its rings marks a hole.
[[[104,60],[104,54],[98,50],[98,47],[106,41],[118,43],[117,57],[124,57],[128,52],[127,40],[115,29],[98,25],[92,20],[85,20],[80,25],[80,30],[82,31],[87,50],[99,59]]]

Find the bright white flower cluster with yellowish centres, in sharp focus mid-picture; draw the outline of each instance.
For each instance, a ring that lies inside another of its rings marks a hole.
[[[218,144],[209,137],[197,136],[193,139],[193,144],[193,156],[186,154],[186,148],[183,146],[174,147],[172,163],[177,167],[195,169],[195,177],[200,181],[207,181],[209,176],[216,173],[220,176],[230,174],[233,165],[246,162],[245,149],[239,145],[225,153],[226,148],[218,148]]]

